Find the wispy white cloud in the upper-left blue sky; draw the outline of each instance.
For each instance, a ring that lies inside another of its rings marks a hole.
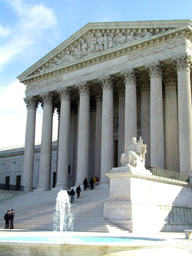
[[[10,30],[0,25],[0,35],[6,41],[0,47],[0,69],[16,54],[25,52],[40,37],[46,37],[46,29],[53,29],[57,19],[54,11],[42,4],[28,5],[22,0],[7,0],[19,16],[19,21]]]

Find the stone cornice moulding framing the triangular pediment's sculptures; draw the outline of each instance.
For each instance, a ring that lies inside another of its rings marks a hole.
[[[163,22],[165,23],[165,21],[163,21]],[[185,22],[189,22],[189,20],[185,20]],[[101,60],[102,60],[102,58],[105,59],[105,56],[107,56],[108,54],[116,55],[116,54],[118,54],[118,51],[121,52],[121,51],[125,50],[127,52],[126,49],[128,49],[128,51],[130,52],[132,50],[132,48],[136,48],[136,49],[141,48],[141,47],[145,46],[146,44],[154,45],[162,40],[165,41],[165,40],[169,40],[169,39],[176,38],[179,36],[184,36],[184,35],[186,35],[189,38],[192,37],[191,23],[188,23],[188,25],[176,27],[174,29],[169,27],[168,25],[166,26],[166,23],[164,25],[164,28],[162,26],[161,26],[161,28],[158,28],[157,26],[155,26],[155,28],[153,28],[154,25],[147,26],[147,23],[145,23],[145,25],[143,25],[143,26],[140,26],[140,27],[138,26],[138,28],[137,27],[134,28],[133,23],[131,23],[132,26],[130,26],[129,23],[130,22],[128,22],[128,23],[127,22],[122,22],[122,23],[112,22],[110,24],[110,26],[108,26],[107,28],[106,28],[107,23],[101,23],[102,25],[105,24],[104,28],[102,28],[102,26],[98,26],[97,23],[88,23],[82,29],[77,31],[74,35],[72,35],[67,40],[65,40],[63,43],[61,43],[59,46],[54,48],[50,53],[46,54],[42,59],[37,61],[29,69],[27,69],[25,72],[23,72],[21,75],[19,75],[18,79],[20,80],[20,82],[25,82],[25,80],[28,80],[31,78],[37,78],[38,76],[46,75],[46,74],[53,73],[53,72],[58,72],[58,71],[61,71],[62,69],[64,69],[64,72],[67,69],[66,72],[68,72],[68,70],[73,70],[73,68],[78,69],[78,68],[81,68],[82,66],[84,67],[85,65],[87,65],[87,62],[89,62],[89,61],[92,62],[95,59],[97,60],[97,58],[101,58]],[[95,25],[95,28],[94,28],[93,24],[96,24],[97,26]],[[112,29],[113,24],[116,24],[116,27],[113,26],[114,28]],[[123,26],[123,24],[124,24],[124,27],[126,27],[126,29],[121,28],[120,25]],[[129,26],[126,26],[126,24],[129,24]],[[142,24],[143,24],[143,22],[142,22]],[[107,25],[109,25],[109,24],[107,24]],[[136,25],[134,25],[134,26],[136,26]],[[146,29],[146,28],[144,28],[144,26],[147,26],[148,28]],[[178,26],[178,24],[177,24],[177,26]],[[168,29],[168,30],[163,32],[163,30],[166,30],[166,29]],[[141,32],[149,30],[152,33],[155,31],[156,32],[159,31],[160,33],[158,32],[159,34],[151,35],[150,37],[143,37],[141,39],[137,39],[132,42],[128,42],[123,45],[116,46],[114,48],[104,50],[99,53],[95,53],[91,56],[87,56],[82,59],[72,61],[68,64],[59,65],[55,68],[52,68],[52,69],[49,69],[46,71],[42,71],[42,72],[40,72],[40,74],[39,74],[39,72],[36,71],[37,72],[36,74],[30,75],[31,73],[35,72],[35,70],[37,70],[39,67],[44,65],[47,61],[50,61],[54,57],[57,57],[57,54],[60,54],[61,51],[63,51],[64,49],[70,48],[72,45],[77,47],[79,39],[85,38],[91,32],[95,33],[95,31],[97,31],[97,33],[99,33],[98,31],[101,31],[102,33],[105,33],[105,31],[108,31],[108,33],[113,33],[113,31],[115,31],[115,33],[118,33],[120,31],[122,33],[125,33],[124,31],[126,31],[127,33],[128,32],[130,33],[130,31],[134,31],[134,30],[135,31],[138,30]],[[76,38],[76,40],[74,40],[74,38]],[[131,48],[131,49],[129,49],[129,48]]]

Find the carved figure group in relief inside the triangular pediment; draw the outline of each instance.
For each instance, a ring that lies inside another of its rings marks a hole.
[[[121,32],[118,34],[107,34],[100,32],[97,36],[91,32],[90,37],[87,38],[87,42],[84,38],[80,39],[77,47],[71,46],[71,48],[67,48],[66,51],[63,50],[62,53],[59,53],[53,58],[53,60],[50,60],[44,66],[39,68],[38,71],[41,72],[45,71],[46,69],[57,67],[59,65],[67,64],[69,62],[82,59],[83,57],[89,56],[91,54],[102,52],[103,50],[108,50],[116,46],[123,45],[151,35],[152,34],[148,31],[146,34],[138,36],[135,35],[135,32],[131,32],[131,34],[128,35],[125,35]]]

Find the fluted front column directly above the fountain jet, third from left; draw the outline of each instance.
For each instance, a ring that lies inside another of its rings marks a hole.
[[[57,164],[56,189],[68,189],[68,158],[69,158],[69,124],[70,124],[70,88],[60,88],[57,90],[61,100],[60,127],[59,127],[59,147]]]

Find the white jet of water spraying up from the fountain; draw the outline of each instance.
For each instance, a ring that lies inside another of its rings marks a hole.
[[[72,231],[73,217],[70,212],[71,203],[66,190],[61,190],[56,198],[56,211],[53,216],[53,230],[54,231]]]

